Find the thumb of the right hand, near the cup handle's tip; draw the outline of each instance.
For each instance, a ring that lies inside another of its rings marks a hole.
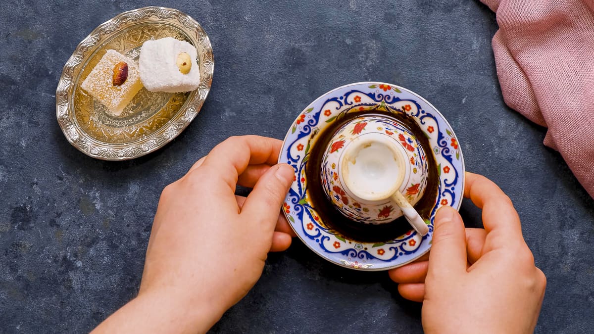
[[[466,273],[466,231],[462,217],[451,206],[438,210],[434,219],[433,240],[427,276],[455,278]]]

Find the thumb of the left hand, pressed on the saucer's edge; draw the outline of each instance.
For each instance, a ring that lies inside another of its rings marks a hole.
[[[246,198],[241,215],[249,221],[264,222],[266,226],[260,228],[270,229],[272,233],[279,218],[280,206],[294,177],[293,168],[286,163],[268,169]]]

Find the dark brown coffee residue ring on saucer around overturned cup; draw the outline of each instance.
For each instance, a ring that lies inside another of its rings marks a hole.
[[[429,138],[427,138],[424,131],[419,127],[415,118],[400,111],[387,112],[372,109],[369,111],[349,112],[339,121],[334,121],[328,125],[324,131],[321,131],[321,133],[318,134],[318,138],[315,140],[311,152],[309,153],[309,160],[305,165],[305,176],[308,179],[308,197],[312,207],[315,208],[316,213],[320,216],[321,221],[324,222],[324,225],[326,225],[328,229],[343,235],[343,237],[351,241],[386,242],[394,240],[412,229],[404,217],[378,225],[365,224],[351,220],[340,213],[324,193],[320,170],[324,150],[326,150],[326,147],[330,143],[333,134],[336,133],[342,125],[345,125],[347,122],[350,122],[355,118],[373,115],[390,118],[393,121],[403,124],[415,135],[425,152],[428,167],[427,186],[425,193],[415,204],[415,209],[424,220],[429,219],[431,216],[431,211],[435,206],[435,199],[437,198],[439,179],[437,174],[437,162],[435,162],[435,156],[431,149],[431,145],[429,144]]]

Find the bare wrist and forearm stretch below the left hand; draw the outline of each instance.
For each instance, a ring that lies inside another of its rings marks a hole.
[[[191,304],[180,298],[141,294],[92,333],[206,333],[222,316],[222,312],[207,303],[200,303],[198,307],[188,305]]]

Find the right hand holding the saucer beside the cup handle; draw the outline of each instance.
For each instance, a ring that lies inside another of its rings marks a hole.
[[[534,264],[510,198],[489,179],[466,173],[464,196],[483,210],[485,229],[459,213],[435,216],[429,261],[390,270],[400,294],[422,301],[425,333],[532,333],[546,278]]]

